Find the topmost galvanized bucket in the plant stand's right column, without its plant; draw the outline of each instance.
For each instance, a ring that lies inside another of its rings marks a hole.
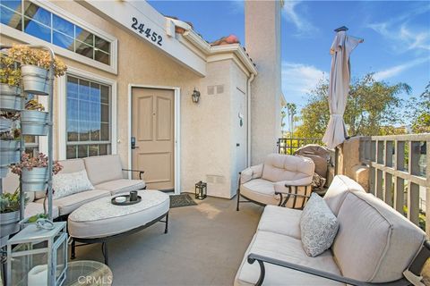
[[[47,96],[51,90],[48,71],[36,65],[22,65],[22,86],[24,91],[34,95]]]

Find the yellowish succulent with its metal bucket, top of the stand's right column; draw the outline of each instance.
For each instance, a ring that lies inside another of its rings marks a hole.
[[[24,45],[13,45],[8,55],[22,63],[22,86],[26,92],[35,95],[47,95],[51,85],[48,78],[48,69],[51,64],[51,55],[40,49],[33,49]],[[54,76],[64,75],[67,66],[58,58],[54,60]]]

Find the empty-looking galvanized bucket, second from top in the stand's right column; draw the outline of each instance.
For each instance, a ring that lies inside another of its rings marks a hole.
[[[49,114],[37,110],[23,110],[21,114],[22,135],[45,136],[49,131]]]

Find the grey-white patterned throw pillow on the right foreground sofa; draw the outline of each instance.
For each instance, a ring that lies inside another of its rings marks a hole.
[[[339,222],[323,198],[313,193],[300,217],[302,246],[309,257],[316,257],[331,247]]]

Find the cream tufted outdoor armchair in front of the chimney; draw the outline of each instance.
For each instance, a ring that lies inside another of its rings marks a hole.
[[[263,164],[240,172],[236,210],[244,202],[303,208],[311,193],[314,167],[311,159],[301,156],[267,156]]]

